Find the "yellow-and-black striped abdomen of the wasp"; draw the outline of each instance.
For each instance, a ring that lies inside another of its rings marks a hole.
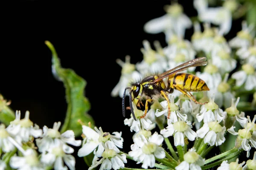
[[[176,89],[175,86],[178,86],[183,91],[209,91],[204,80],[195,75],[186,73],[170,75],[168,85],[174,89]]]

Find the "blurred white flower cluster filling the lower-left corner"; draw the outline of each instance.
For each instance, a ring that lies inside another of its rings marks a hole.
[[[68,144],[78,147],[81,140],[75,140],[72,130],[61,134],[58,131],[60,126],[61,122],[55,122],[52,129],[44,126],[42,130],[29,119],[29,111],[26,111],[24,119],[20,119],[20,111],[16,111],[16,118],[8,127],[0,125],[0,150],[8,154],[16,153],[18,149],[21,153],[10,157],[10,167],[17,170],[45,170],[49,167],[55,170],[74,170],[76,161],[71,155],[74,149]],[[5,168],[6,156],[3,156],[0,169]]]

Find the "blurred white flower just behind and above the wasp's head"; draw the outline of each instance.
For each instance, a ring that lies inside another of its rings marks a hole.
[[[130,63],[130,58],[130,56],[126,56],[125,62],[123,62],[121,59],[116,59],[117,64],[122,67],[122,71],[119,82],[111,91],[111,96],[113,97],[119,96],[122,98],[125,88],[130,85],[130,81],[140,78],[140,73],[136,71],[135,64]],[[127,91],[126,95],[128,94],[129,93]]]

